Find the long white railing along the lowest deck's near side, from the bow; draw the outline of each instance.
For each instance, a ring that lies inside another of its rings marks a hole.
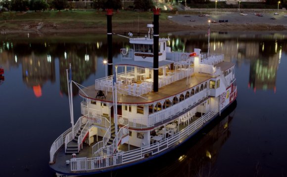
[[[214,118],[217,113],[217,108],[215,108],[214,110],[207,112],[206,114],[192,122],[182,131],[176,133],[169,138],[164,139],[161,142],[156,142],[152,145],[147,145],[142,148],[123,153],[105,155],[102,157],[71,159],[71,171],[91,171],[101,168],[108,168],[144,159],[145,155],[158,154],[165,151],[167,148],[173,147],[181,142],[186,141],[190,137],[190,135],[194,134],[198,129],[202,128],[203,125],[211,118]]]

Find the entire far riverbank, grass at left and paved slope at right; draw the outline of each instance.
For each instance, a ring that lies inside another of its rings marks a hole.
[[[263,16],[247,12],[247,16],[239,12],[210,12],[209,17],[198,16],[199,12],[189,11],[185,14],[174,15],[161,13],[160,32],[202,31],[206,30],[208,20],[211,32],[220,31],[285,31],[287,30],[287,17],[284,12],[274,16],[273,12],[262,12]],[[167,18],[172,16],[172,18]],[[276,17],[272,20],[270,18]],[[2,13],[0,24],[2,33],[105,33],[106,16],[102,11],[49,11],[29,13]],[[153,15],[150,12],[115,12],[113,15],[113,32],[132,31],[146,32],[146,24],[152,23]],[[219,23],[219,20],[228,20]]]

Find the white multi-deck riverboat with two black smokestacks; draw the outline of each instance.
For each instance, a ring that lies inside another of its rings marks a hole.
[[[58,176],[102,173],[161,156],[237,98],[235,64],[200,49],[172,52],[169,38],[158,35],[159,9],[147,35],[130,33],[133,47],[121,49],[121,58],[112,62],[111,15],[108,11],[107,64],[112,70],[80,89],[82,116],[74,124],[71,108],[71,128],[52,143],[49,165]]]

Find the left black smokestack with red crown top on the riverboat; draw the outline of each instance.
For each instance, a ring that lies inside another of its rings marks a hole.
[[[108,76],[113,75],[113,55],[112,55],[112,15],[113,9],[106,9],[107,19],[107,39],[108,39]]]

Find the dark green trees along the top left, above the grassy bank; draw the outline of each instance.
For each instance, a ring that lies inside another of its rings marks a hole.
[[[65,8],[72,8],[72,1],[68,3],[68,0],[2,0],[0,6],[10,11],[26,11],[26,10],[47,10],[57,9],[62,10]],[[95,9],[121,9],[121,0],[93,0],[93,8]],[[141,10],[152,9],[152,0],[134,0],[134,8]]]

